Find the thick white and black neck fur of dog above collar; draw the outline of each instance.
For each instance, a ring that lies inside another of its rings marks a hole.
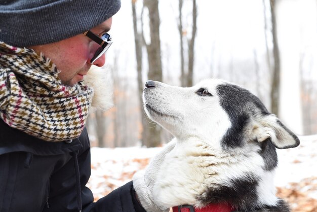
[[[177,148],[166,155],[162,164],[162,171],[159,172],[162,180],[159,185],[155,185],[159,188],[155,189],[154,186],[154,191],[161,191],[164,195],[157,193],[155,196],[160,197],[158,200],[164,204],[172,202],[174,205],[171,206],[191,204],[203,207],[210,202],[231,203],[233,199],[226,198],[224,192],[224,185],[227,185],[226,188],[236,190],[236,195],[233,195],[235,207],[248,207],[244,195],[252,196],[252,192],[257,192],[254,196],[260,196],[256,200],[252,199],[255,206],[272,204],[278,201],[272,181],[273,173],[262,169],[263,159],[256,152],[252,154],[252,149],[254,151],[257,148],[244,147],[224,151],[213,149],[197,138],[177,140]],[[240,178],[236,179],[236,176]],[[247,180],[244,181],[244,178]],[[244,182],[249,182],[250,179],[251,182],[252,179],[257,179],[255,190],[244,190]],[[175,193],[181,193],[181,199]],[[228,193],[232,196],[231,190]]]

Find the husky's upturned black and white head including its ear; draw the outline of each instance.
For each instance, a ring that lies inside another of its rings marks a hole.
[[[222,80],[190,88],[149,81],[143,101],[147,115],[180,140],[199,137],[222,149],[267,140],[279,149],[299,145],[297,136],[255,95]]]

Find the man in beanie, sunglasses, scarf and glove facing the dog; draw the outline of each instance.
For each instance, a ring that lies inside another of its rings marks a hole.
[[[120,6],[120,0],[0,0],[1,212],[164,210],[151,190],[157,161],[173,145],[134,183],[96,203],[85,186],[91,168],[84,125],[93,89],[82,80],[92,65],[104,65]]]

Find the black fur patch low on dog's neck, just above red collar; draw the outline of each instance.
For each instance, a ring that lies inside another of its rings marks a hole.
[[[203,203],[228,202],[239,211],[254,211],[255,203],[258,200],[257,188],[258,179],[253,174],[247,174],[239,179],[230,180],[228,186],[208,188],[205,197],[197,197]]]

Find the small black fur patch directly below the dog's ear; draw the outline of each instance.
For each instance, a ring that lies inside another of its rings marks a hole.
[[[274,145],[269,138],[264,140],[264,142],[261,142],[260,145],[261,151],[259,154],[265,162],[265,166],[263,168],[267,171],[273,170],[276,166],[278,166],[278,154],[276,153]]]

